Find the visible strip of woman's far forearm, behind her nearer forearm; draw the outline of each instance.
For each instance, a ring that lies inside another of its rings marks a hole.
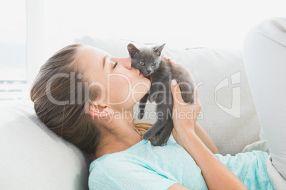
[[[211,137],[208,135],[208,133],[206,133],[206,130],[203,130],[203,128],[201,127],[201,125],[198,124],[198,122],[196,122],[195,124],[195,133],[198,138],[203,141],[203,144],[205,144],[206,147],[208,147],[208,149],[213,152],[213,154],[219,154],[218,148],[213,143],[213,140],[211,140]]]

